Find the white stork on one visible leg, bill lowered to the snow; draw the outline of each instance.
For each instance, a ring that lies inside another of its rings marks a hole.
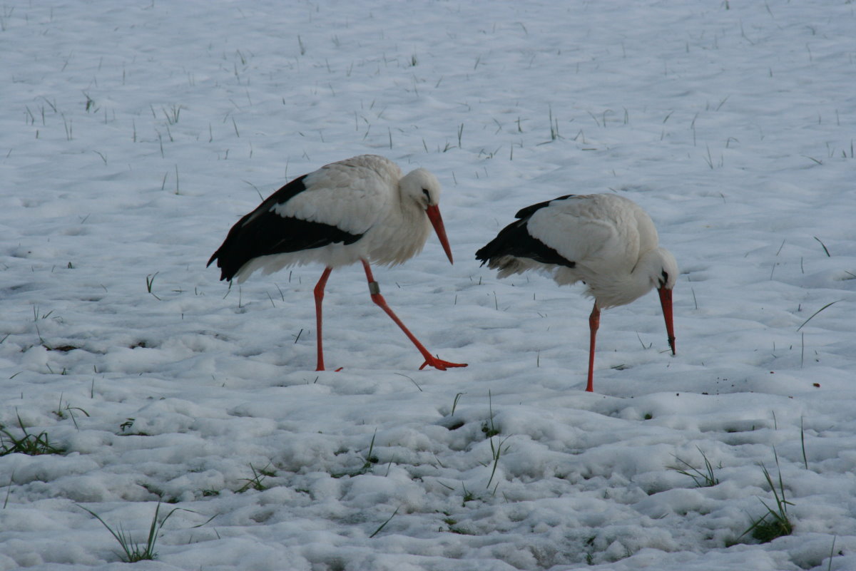
[[[669,250],[657,246],[657,228],[645,210],[615,194],[568,195],[527,206],[516,217],[476,258],[498,269],[500,278],[538,269],[560,286],[586,284],[586,295],[594,297],[586,391],[594,390],[601,309],[630,303],[656,287],[675,354],[672,288],[678,264]]]

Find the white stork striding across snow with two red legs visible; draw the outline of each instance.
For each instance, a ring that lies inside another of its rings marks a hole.
[[[270,274],[295,264],[324,264],[314,289],[316,370],[323,371],[324,286],[333,268],[362,262],[372,301],[401,327],[425,357],[420,369],[426,365],[440,370],[466,367],[431,356],[389,309],[369,267],[369,262],[392,266],[419,254],[431,234],[431,226],[452,262],[452,250],[437,207],[439,200],[440,183],[425,168],[402,176],[395,162],[376,155],[332,162],[292,180],[241,218],[208,265],[217,260],[221,280],[236,277],[241,283],[259,268]]]

